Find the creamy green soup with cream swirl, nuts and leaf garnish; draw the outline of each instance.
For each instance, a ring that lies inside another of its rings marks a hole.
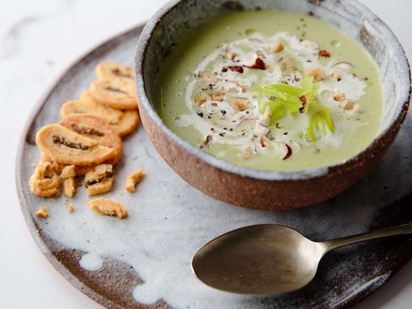
[[[186,36],[165,59],[155,107],[186,141],[259,170],[354,157],[378,134],[383,93],[368,52],[310,16],[236,12]]]

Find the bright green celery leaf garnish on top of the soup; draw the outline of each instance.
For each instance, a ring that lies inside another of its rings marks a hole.
[[[326,135],[328,130],[331,133],[334,132],[334,122],[332,115],[330,115],[331,109],[317,102],[318,89],[319,84],[314,84],[312,76],[305,76],[299,87],[288,84],[269,84],[257,89],[258,93],[265,95],[270,100],[260,101],[259,111],[263,114],[268,106],[271,107],[271,126],[278,119],[284,117],[286,111],[289,111],[290,116],[295,115],[298,111],[308,113],[310,119],[303,137],[312,143],[319,139],[319,134]]]

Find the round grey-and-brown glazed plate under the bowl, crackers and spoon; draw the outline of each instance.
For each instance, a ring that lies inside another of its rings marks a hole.
[[[126,205],[126,220],[98,216],[80,188],[69,214],[64,196],[55,202],[34,196],[27,181],[40,153],[36,130],[59,121],[66,100],[78,98],[103,60],[133,65],[142,27],[100,45],[69,68],[45,96],[23,132],[16,163],[16,186],[27,225],[46,258],[71,284],[108,308],[349,308],[395,275],[412,255],[410,236],[373,240],[325,256],[314,281],[278,297],[231,295],[204,286],[190,260],[212,238],[246,225],[293,227],[312,240],[337,238],[399,225],[412,219],[412,115],[374,170],[332,200],[293,211],[253,211],[205,196],[179,179],[148,141],[144,128],[124,141],[113,192]],[[135,194],[124,190],[128,172],[147,176]],[[34,212],[41,205],[50,217]]]

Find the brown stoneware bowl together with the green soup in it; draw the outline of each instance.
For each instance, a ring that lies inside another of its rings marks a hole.
[[[407,113],[400,43],[357,1],[172,1],[136,56],[163,159],[210,196],[291,209],[366,174]]]

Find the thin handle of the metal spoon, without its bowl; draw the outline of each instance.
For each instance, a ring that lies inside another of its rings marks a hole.
[[[346,246],[347,244],[355,244],[356,242],[363,242],[365,240],[372,240],[376,238],[402,234],[412,234],[412,221],[406,225],[399,225],[398,227],[388,227],[387,229],[380,229],[378,231],[371,231],[369,233],[347,236],[334,240],[326,240],[325,242],[323,242],[323,244],[326,245],[326,252],[328,252],[330,250]]]

